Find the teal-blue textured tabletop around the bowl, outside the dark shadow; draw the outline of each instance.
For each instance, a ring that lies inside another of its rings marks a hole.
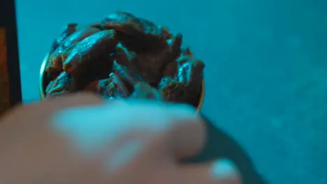
[[[64,24],[128,11],[183,33],[206,64],[203,112],[270,183],[326,184],[326,9],[326,0],[17,0],[23,98],[39,100],[38,71]]]

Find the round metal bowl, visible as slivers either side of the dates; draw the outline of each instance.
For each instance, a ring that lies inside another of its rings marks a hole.
[[[41,70],[40,70],[40,81],[39,81],[39,91],[41,95],[41,99],[45,100],[45,89],[49,84],[49,81],[45,75],[45,66],[48,63],[48,59],[50,57],[50,53],[48,53],[45,58],[43,59],[43,63],[41,65]],[[205,96],[205,82],[203,80],[202,85],[201,85],[201,93],[198,94],[198,97],[196,98],[196,102],[194,102],[194,107],[196,107],[196,111],[200,112],[201,107],[203,105],[203,99]]]

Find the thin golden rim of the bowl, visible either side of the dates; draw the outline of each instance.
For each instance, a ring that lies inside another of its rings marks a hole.
[[[43,59],[43,62],[41,64],[41,68],[40,68],[40,79],[39,79],[39,92],[40,92],[40,96],[41,96],[41,100],[45,100],[45,88],[43,86],[43,78],[44,78],[44,74],[45,74],[45,67],[48,63],[48,59],[50,57],[50,53],[45,55],[45,58]],[[204,79],[202,81],[202,86],[201,86],[201,96],[200,96],[200,100],[198,102],[198,106],[196,107],[196,112],[200,112],[202,105],[203,105],[203,101],[204,101],[204,96],[205,96],[205,82]]]

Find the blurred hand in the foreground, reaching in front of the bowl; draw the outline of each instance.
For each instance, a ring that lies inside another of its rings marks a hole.
[[[237,184],[226,160],[180,164],[205,143],[194,109],[67,95],[0,120],[0,183]]]

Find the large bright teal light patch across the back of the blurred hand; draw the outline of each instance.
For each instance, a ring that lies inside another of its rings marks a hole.
[[[128,131],[160,132],[176,118],[197,118],[187,105],[152,100],[112,101],[94,107],[64,109],[54,115],[52,128],[66,135],[86,155],[108,147]]]

